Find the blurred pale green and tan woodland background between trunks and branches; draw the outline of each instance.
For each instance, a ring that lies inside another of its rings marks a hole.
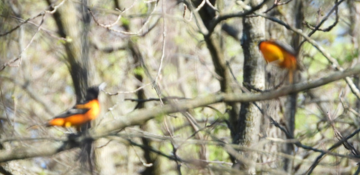
[[[81,3],[76,0],[68,1],[75,4]],[[359,16],[360,12],[350,12],[349,9],[352,7],[349,5],[350,1],[345,1],[339,6],[339,21],[332,30],[318,31],[311,37],[336,58],[343,68],[352,67],[359,62],[359,46],[354,42],[354,37],[359,36],[351,35],[351,24],[354,21],[351,21],[350,17],[351,15]],[[52,1],[54,5],[61,2],[62,0]],[[217,6],[219,13],[235,13],[242,10],[237,2],[222,2],[222,7]],[[129,99],[138,99],[134,90],[139,87],[143,87],[147,98],[158,98],[149,75],[146,75],[144,68],[139,66],[140,63],[134,63],[129,41],[138,45],[152,78],[157,76],[161,57],[164,58],[162,71],[157,79],[164,97],[196,98],[219,92],[220,85],[209,50],[203,41],[203,36],[198,32],[192,13],[188,9],[184,11],[182,1],[119,0],[117,3],[120,4],[120,10],[115,9],[114,0],[88,2],[99,24],[113,24],[118,15],[121,15],[120,21],[111,27],[113,30],[99,26],[93,17],[91,18],[88,36],[89,57],[92,58],[94,65],[92,71],[95,73],[95,78],[91,81],[93,85],[106,82],[105,91],[108,93],[120,92],[117,95],[100,93],[102,113],[94,127],[103,122],[121,120],[122,116],[133,111],[137,102]],[[274,2],[270,0],[267,6],[271,6],[272,3]],[[333,8],[334,1],[305,0],[304,4],[306,4],[304,20],[309,24],[317,24],[319,19],[321,20]],[[354,2],[354,4],[359,10],[359,2]],[[281,13],[282,9],[288,8],[288,4],[276,8]],[[10,31],[25,19],[32,18],[44,10],[49,10],[49,7],[43,0],[0,1],[0,33]],[[39,28],[42,20],[44,22]],[[324,26],[331,25],[334,20],[335,15],[330,15]],[[359,23],[359,21],[355,22]],[[231,18],[226,23],[237,28],[241,33],[241,18]],[[69,38],[66,40],[60,38],[57,31],[53,16],[45,14],[43,19],[42,16],[31,19],[15,31],[0,37],[0,65],[21,56],[21,59],[11,63],[0,72],[2,139],[49,138],[51,140],[75,132],[74,129],[39,126],[54,115],[72,107],[76,102],[63,47],[64,42],[72,41]],[[242,84],[244,58],[240,41],[222,32],[220,25],[215,28],[215,31],[221,38],[220,44],[224,48],[223,54],[226,61],[229,62],[237,81]],[[303,30],[305,33],[309,31],[309,29]],[[126,32],[137,33],[137,35],[129,35]],[[164,32],[166,33],[165,40]],[[164,42],[165,49],[162,49]],[[334,72],[327,59],[311,44],[305,42],[301,50],[303,52],[301,81],[315,80]],[[141,75],[143,81],[139,81],[135,75]],[[233,87],[239,88],[235,82],[233,82]],[[308,92],[303,92],[297,99],[294,137],[303,144],[326,150],[338,141],[334,137],[334,131],[324,112],[331,114],[335,122],[334,127],[343,136],[359,128],[360,107],[357,104],[359,99],[351,93],[345,81],[321,86],[311,90],[311,93],[315,94],[314,98],[310,98]],[[149,101],[145,103],[145,108],[158,105],[161,104],[157,100]],[[183,174],[231,174],[232,163],[229,154],[224,148],[211,143],[216,139],[225,143],[232,142],[228,125],[224,122],[228,117],[226,106],[222,103],[212,104],[211,108],[195,108],[186,113],[195,119],[197,127],[202,128],[199,131],[201,138],[195,136],[197,134],[194,133],[191,122],[184,117],[183,113],[164,115],[148,122],[147,127],[151,129],[146,130],[146,133],[152,134],[153,138],[150,140],[154,141],[153,147],[166,155],[172,155],[174,146],[171,140],[178,139],[174,141],[177,156],[187,160],[181,163]],[[38,127],[31,127],[34,125]],[[173,132],[172,139],[169,138],[166,127]],[[144,132],[139,126],[128,127],[118,133],[118,137],[122,139],[107,138],[102,142],[108,149],[108,153],[104,156],[114,165],[115,174],[139,174],[147,168],[148,165],[144,163],[144,150],[124,141],[131,139],[136,143],[141,143],[139,135]],[[196,140],[208,142],[195,144]],[[356,135],[351,143],[358,148],[358,142],[359,135]],[[36,147],[33,141],[23,140],[6,142],[4,149],[17,147],[19,144],[33,144]],[[101,150],[104,147],[98,145],[96,149]],[[296,148],[295,151],[296,161],[293,174],[306,172],[319,155],[319,153],[300,148]],[[201,155],[201,152],[204,152],[204,155]],[[350,154],[343,147],[339,147],[334,153]],[[9,171],[13,174],[18,174],[17,170],[23,174],[80,174],[84,170],[80,168],[77,156],[78,149],[73,149],[51,157],[11,161],[5,166],[9,167]],[[204,161],[199,161],[202,159],[201,156],[204,156]],[[276,153],[275,156],[281,157]],[[164,156],[158,156],[158,158],[161,163],[159,171],[154,174],[178,174],[175,161]],[[266,164],[266,162],[261,163]],[[314,174],[320,174],[320,172],[351,174],[357,169],[357,163],[347,158],[325,156],[314,170]]]

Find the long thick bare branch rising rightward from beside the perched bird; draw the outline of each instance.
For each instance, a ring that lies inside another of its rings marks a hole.
[[[164,105],[163,107],[156,107],[153,109],[140,109],[129,113],[127,116],[129,118],[131,117],[138,118],[138,120],[134,121],[134,123],[132,123],[131,125],[140,125],[143,124],[145,121],[154,118],[155,116],[207,106],[209,104],[214,104],[219,102],[243,103],[243,102],[255,102],[261,100],[274,99],[291,93],[313,89],[328,84],[330,82],[340,80],[344,77],[359,73],[360,73],[360,65],[357,65],[354,68],[348,69],[346,71],[337,71],[327,77],[320,78],[318,80],[302,82],[294,85],[288,85],[288,86],[284,86],[283,88],[279,88],[277,90],[273,90],[265,93],[258,93],[258,94],[220,93],[220,94],[208,95],[207,97],[195,98],[193,100],[185,100],[183,102],[179,102],[176,104],[167,104]],[[103,133],[103,134],[96,134],[96,136],[107,135],[112,131],[126,127],[129,124],[130,124],[129,121],[116,120],[94,128],[93,133]]]

